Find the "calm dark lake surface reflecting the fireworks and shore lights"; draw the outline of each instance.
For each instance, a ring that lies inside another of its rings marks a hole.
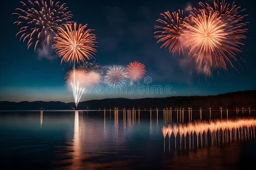
[[[236,116],[255,116],[255,111],[211,111],[211,119]],[[168,135],[164,151],[161,128],[168,122],[180,123],[181,117],[180,111],[172,111],[171,122],[160,110],[141,110],[140,115],[113,110],[1,111],[0,165],[3,169],[242,169],[254,165],[254,139],[191,149],[183,144],[180,150],[180,138],[175,149],[172,134],[170,152]],[[192,121],[200,117],[210,119],[210,112],[192,111]],[[190,118],[185,110],[181,122]]]

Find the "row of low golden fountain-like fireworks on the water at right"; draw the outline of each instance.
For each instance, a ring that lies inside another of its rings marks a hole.
[[[227,111],[228,114],[228,111]],[[176,136],[179,134],[180,136],[180,150],[182,148],[182,139],[184,136],[184,148],[186,149],[186,137],[189,139],[189,148],[191,147],[191,138],[192,136],[192,148],[194,148],[194,136],[196,137],[196,143],[198,147],[198,142],[200,139],[201,147],[207,145],[209,143],[207,141],[208,136],[210,136],[210,143],[213,144],[224,144],[224,143],[232,143],[236,141],[246,141],[251,139],[255,139],[255,127],[256,127],[256,119],[255,118],[236,118],[236,119],[216,119],[209,121],[194,121],[188,123],[180,123],[178,126],[174,123],[172,126],[169,124],[168,127],[163,126],[162,133],[165,137],[168,133],[169,136],[169,145],[170,145],[170,137],[173,133],[175,138],[175,148],[176,148]],[[253,134],[253,136],[252,136]],[[208,136],[207,136],[208,135]],[[204,136],[204,137],[203,137]],[[199,138],[200,137],[200,138]],[[165,150],[165,145],[164,145]],[[170,150],[170,146],[169,146]]]

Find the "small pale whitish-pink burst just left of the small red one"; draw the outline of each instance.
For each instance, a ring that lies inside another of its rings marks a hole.
[[[105,76],[105,81],[110,86],[121,86],[125,84],[128,75],[122,66],[109,67]]]

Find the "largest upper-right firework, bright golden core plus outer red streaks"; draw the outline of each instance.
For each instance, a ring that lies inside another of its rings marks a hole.
[[[186,43],[190,48],[192,57],[196,62],[202,64],[223,65],[226,68],[226,61],[233,67],[230,59],[236,59],[236,53],[241,52],[240,42],[245,39],[243,33],[247,32],[241,22],[244,16],[239,13],[240,7],[229,5],[222,1],[220,5],[214,1],[214,8],[209,4],[199,3],[202,9],[194,9],[189,20],[184,23],[187,29]]]

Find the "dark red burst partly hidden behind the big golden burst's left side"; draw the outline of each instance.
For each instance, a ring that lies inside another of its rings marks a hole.
[[[183,33],[183,22],[187,20],[187,17],[183,18],[183,11],[172,12],[172,14],[167,11],[164,14],[161,14],[164,17],[164,20],[157,19],[156,21],[160,22],[162,26],[155,26],[155,29],[160,29],[161,31],[156,31],[155,38],[159,39],[157,43],[163,42],[163,45],[160,48],[169,48],[169,52],[174,54],[177,50],[183,53],[183,47],[181,42],[181,35]]]

